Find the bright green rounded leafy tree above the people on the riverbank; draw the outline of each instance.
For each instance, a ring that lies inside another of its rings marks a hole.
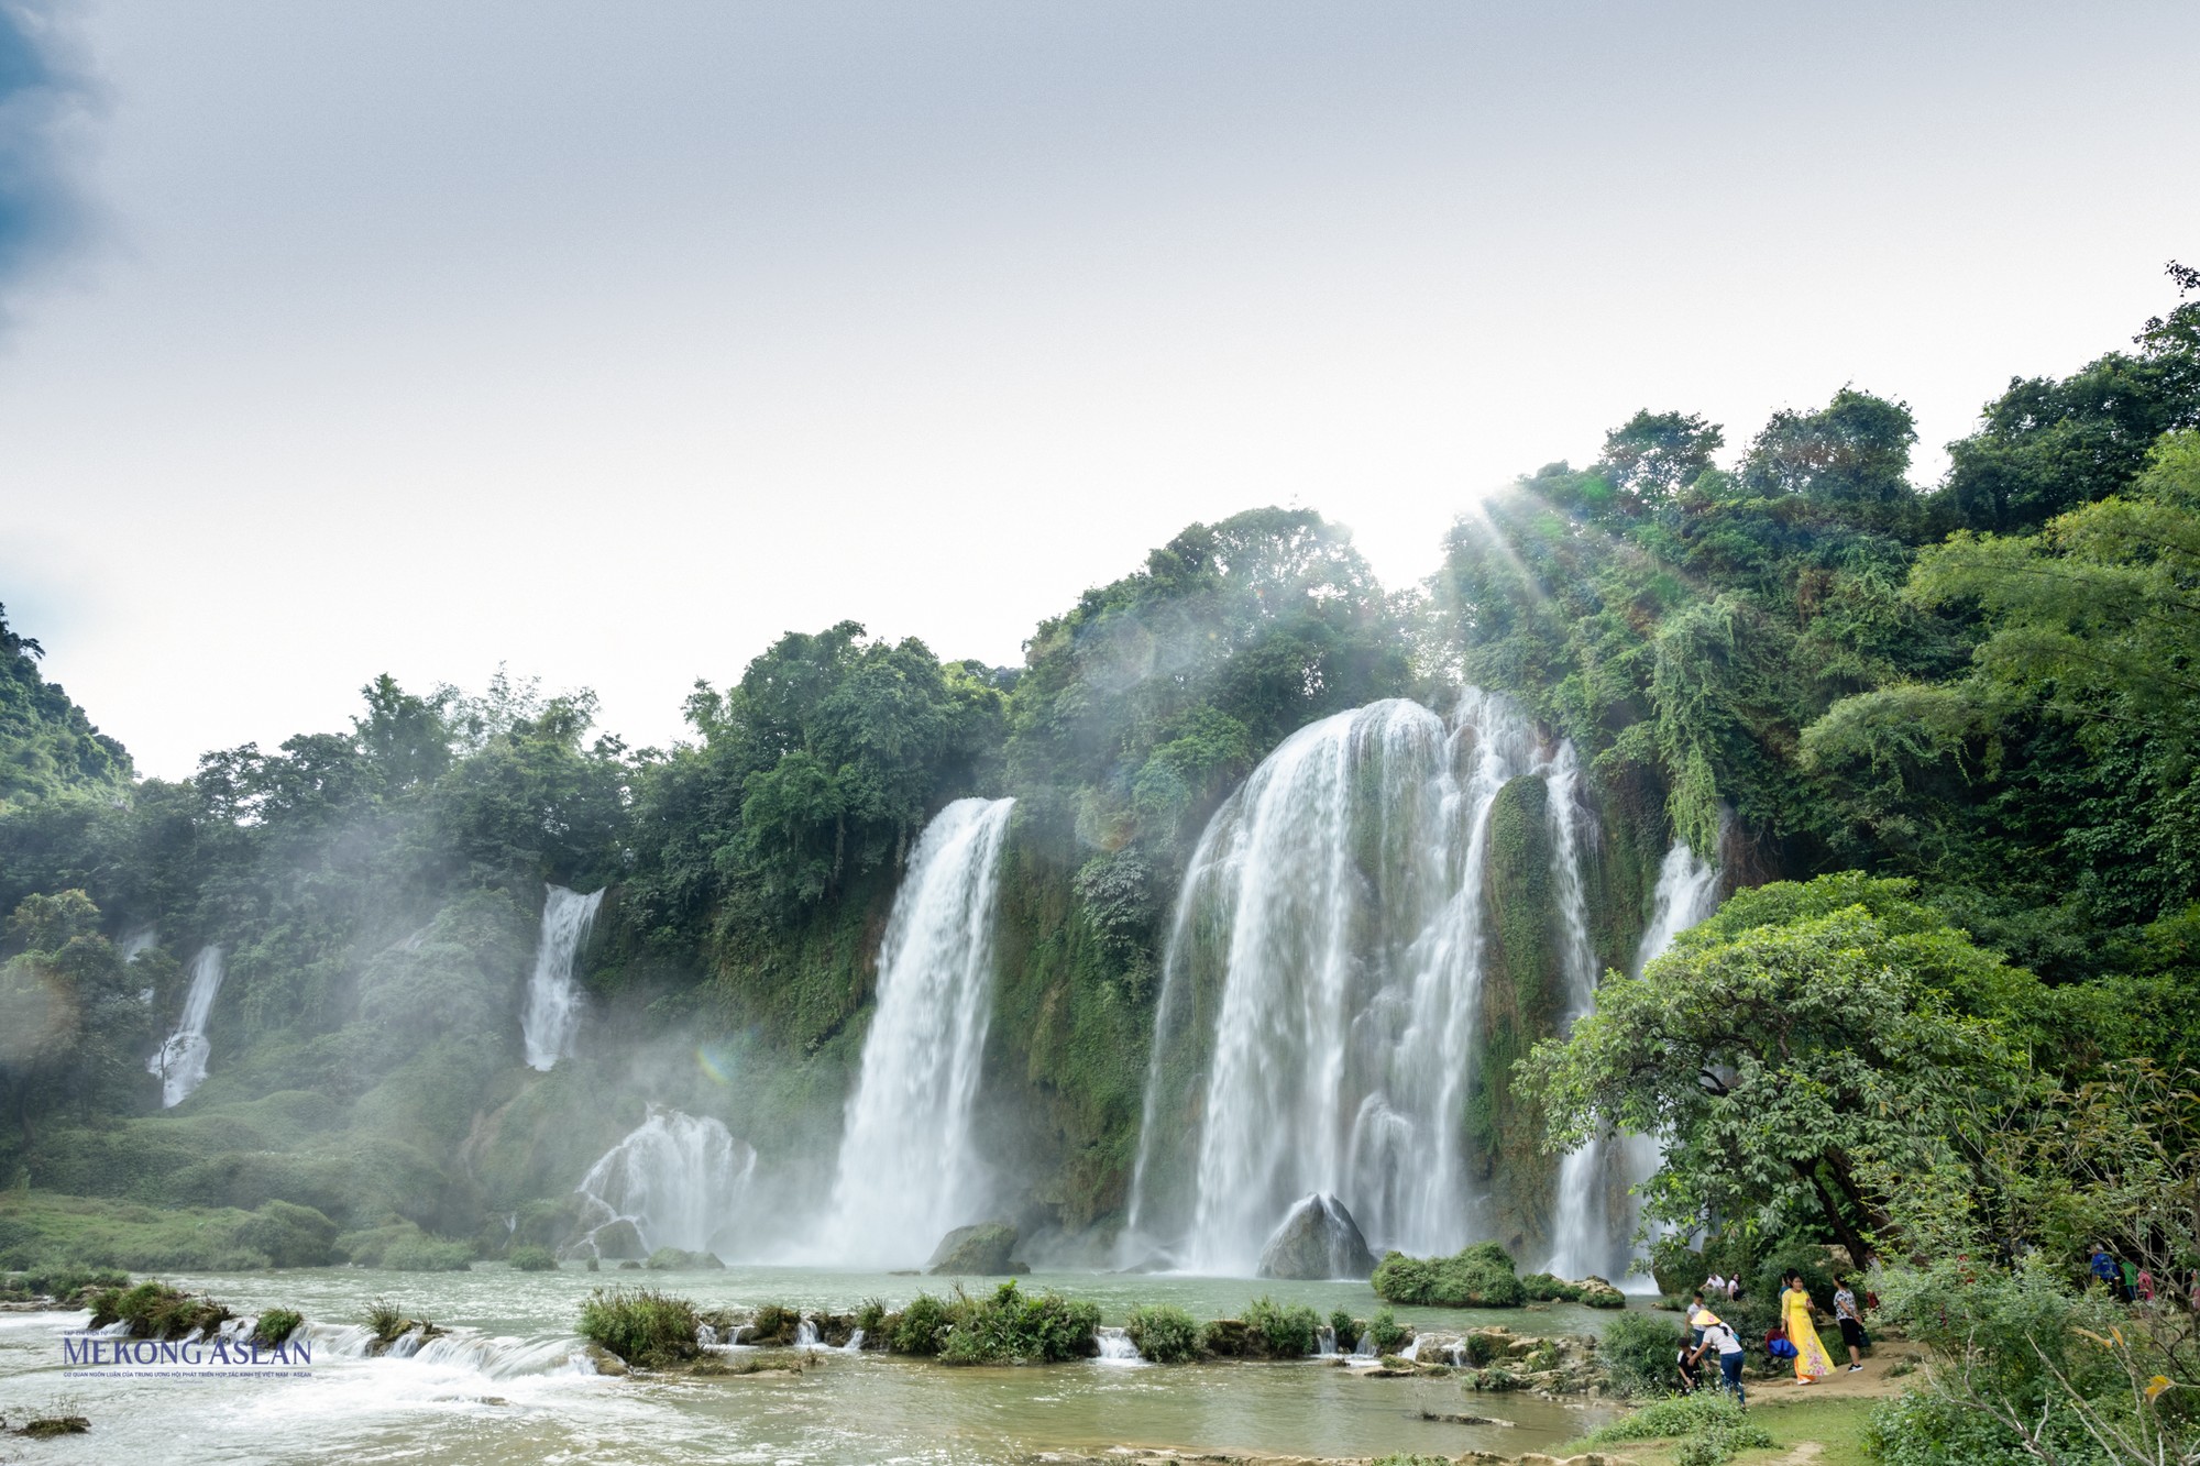
[[[1901,880],[1819,876],[1736,894],[1641,977],[1520,1063],[1549,1147],[1657,1136],[1648,1215],[1813,1215],[1852,1257],[1890,1230],[1868,1167],[1927,1156],[1958,1096],[2020,1063],[1993,1021],[2035,982],[1910,898]]]

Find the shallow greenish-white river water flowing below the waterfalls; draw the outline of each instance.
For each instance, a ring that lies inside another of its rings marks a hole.
[[[339,1358],[323,1327],[310,1378],[64,1378],[59,1336],[84,1314],[0,1314],[0,1415],[90,1415],[92,1433],[42,1442],[40,1459],[101,1462],[911,1462],[997,1464],[1041,1448],[1120,1442],[1309,1455],[1388,1451],[1538,1451],[1597,1415],[1522,1396],[1474,1396],[1456,1380],[1368,1380],[1327,1365],[1080,1363],[948,1369],[829,1356],[803,1376],[601,1378],[565,1363],[590,1288],[647,1283],[704,1308],[790,1303],[849,1310],[867,1297],[900,1305],[946,1279],[814,1268],[726,1272],[374,1272],[317,1268],[174,1277],[240,1314],[297,1308],[317,1325],[350,1325],[372,1299],[460,1332],[416,1358]],[[1122,1323],[1135,1303],[1175,1303],[1197,1319],[1236,1314],[1263,1292],[1366,1316],[1364,1283],[1041,1274]],[[988,1283],[990,1286],[990,1283]],[[1445,1330],[1507,1323],[1520,1332],[1586,1332],[1599,1314],[1399,1310]],[[475,1341],[480,1336],[480,1341]],[[1423,1422],[1421,1411],[1492,1413],[1518,1429]]]

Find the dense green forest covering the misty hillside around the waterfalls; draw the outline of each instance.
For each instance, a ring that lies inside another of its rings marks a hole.
[[[1507,1083],[1553,1145],[1663,1134],[1654,1211],[1753,1257],[1951,1248],[2022,1290],[2020,1241],[2171,1248],[2200,1021],[2200,271],[2171,284],[2127,350],[2011,381],[1936,486],[1910,409],[1855,385],[1731,467],[1720,425],[1641,412],[1463,515],[1423,588],[1382,588],[1311,511],[1256,508],[1087,590],[1021,667],[788,634],[697,682],[671,748],[598,733],[587,693],[383,676],[348,729],[139,779],[0,625],[0,1263],[554,1244],[645,1101],[726,1116],[774,1186],[814,1186],[895,880],[970,792],[1019,801],[997,1142],[1030,1206],[1104,1233],[1208,817],[1296,729],[1467,685],[1580,751],[1608,966],[1670,839],[1740,891],[1646,977],[1615,971],[1571,1043],[1549,1015],[1522,1037],[1547,1041]],[[581,1059],[537,1074],[513,995],[546,883],[607,896]],[[145,1057],[209,942],[216,1059],[163,1112]],[[2094,1127],[2099,1171],[2059,1160],[2048,1114]]]

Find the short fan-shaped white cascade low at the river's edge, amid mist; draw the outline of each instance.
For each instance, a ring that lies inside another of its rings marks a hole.
[[[651,1105],[649,1118],[581,1178],[585,1237],[572,1250],[598,1257],[733,1250],[739,1241],[733,1213],[755,1169],[757,1151],[717,1120]]]

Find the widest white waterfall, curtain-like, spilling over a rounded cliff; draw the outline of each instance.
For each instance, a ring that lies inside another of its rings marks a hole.
[[[1500,696],[1470,689],[1450,720],[1375,702],[1287,737],[1217,810],[1164,951],[1131,1233],[1247,1274],[1322,1191],[1377,1246],[1472,1239],[1489,814],[1520,775],[1571,777],[1555,757]],[[1199,1116],[1190,1138],[1177,1116]]]

